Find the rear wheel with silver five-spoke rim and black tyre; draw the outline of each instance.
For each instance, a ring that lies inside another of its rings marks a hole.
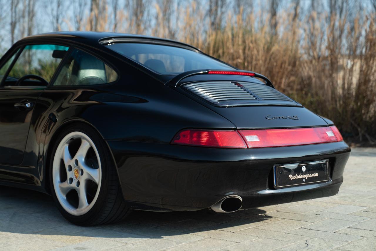
[[[71,125],[53,149],[52,195],[68,221],[99,225],[120,221],[129,214],[111,154],[94,129]]]

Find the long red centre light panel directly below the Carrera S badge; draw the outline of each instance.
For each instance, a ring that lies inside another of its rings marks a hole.
[[[336,142],[330,127],[239,131],[249,148],[309,145]]]

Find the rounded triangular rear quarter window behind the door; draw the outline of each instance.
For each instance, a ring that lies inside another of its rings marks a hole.
[[[117,79],[117,73],[104,62],[74,49],[53,85],[100,85]]]

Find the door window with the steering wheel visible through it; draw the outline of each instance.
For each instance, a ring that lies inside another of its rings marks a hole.
[[[68,49],[55,44],[25,46],[9,72],[5,85],[47,85]],[[20,78],[23,81],[18,81]]]

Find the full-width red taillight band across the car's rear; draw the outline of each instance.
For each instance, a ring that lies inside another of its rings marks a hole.
[[[343,138],[335,126],[241,131],[188,129],[180,131],[173,138],[171,144],[213,148],[264,148],[320,144],[342,140]]]

